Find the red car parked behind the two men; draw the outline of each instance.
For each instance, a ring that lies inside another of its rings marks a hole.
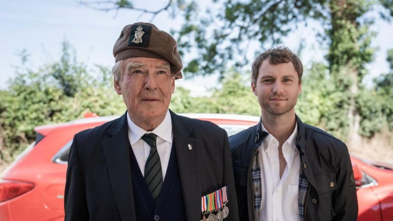
[[[229,114],[184,114],[208,120],[235,134],[259,118]],[[36,127],[37,139],[3,173],[1,221],[64,220],[64,185],[73,135],[116,117],[95,117]],[[358,221],[393,221],[393,170],[351,156],[358,188]]]

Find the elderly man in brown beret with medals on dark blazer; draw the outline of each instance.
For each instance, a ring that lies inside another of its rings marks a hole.
[[[238,220],[226,132],[168,109],[182,78],[176,41],[140,22],[123,28],[113,53],[127,112],[75,135],[65,220]]]

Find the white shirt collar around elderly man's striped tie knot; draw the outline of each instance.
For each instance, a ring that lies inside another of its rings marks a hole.
[[[167,142],[172,142],[172,118],[171,113],[169,110],[165,115],[164,120],[152,131],[145,131],[144,129],[140,128],[134,122],[132,122],[128,112],[127,112],[127,123],[128,123],[128,130],[130,132],[130,144],[134,145],[138,140],[146,133],[154,133],[163,140]]]

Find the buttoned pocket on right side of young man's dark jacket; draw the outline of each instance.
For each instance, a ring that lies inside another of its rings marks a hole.
[[[311,204],[314,204],[317,211],[317,220],[331,220],[334,215],[332,205],[332,195],[337,190],[336,172],[323,171],[315,174],[315,188],[318,193],[318,201],[311,198]]]

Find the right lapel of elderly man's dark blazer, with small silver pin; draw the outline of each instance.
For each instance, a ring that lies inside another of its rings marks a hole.
[[[192,129],[171,111],[173,143],[182,184],[185,215],[188,221],[200,220],[202,190],[198,160],[198,140],[191,138]],[[189,146],[191,145],[191,146]],[[192,149],[190,149],[192,148]]]

